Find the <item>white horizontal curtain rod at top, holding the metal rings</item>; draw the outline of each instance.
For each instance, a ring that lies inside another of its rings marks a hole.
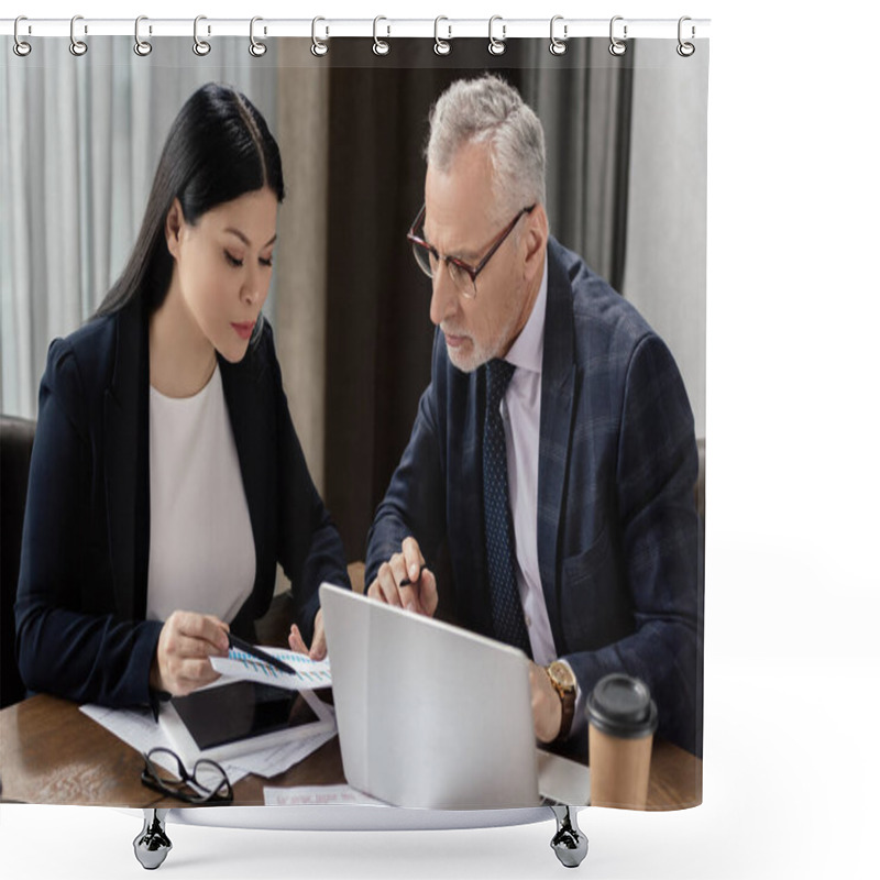
[[[0,19],[0,35],[13,36],[15,19]],[[155,36],[194,36],[210,40],[216,36],[271,38],[301,36],[321,41],[332,37],[427,37],[455,40],[458,37],[491,37],[494,41],[521,37],[547,37],[563,42],[574,37],[612,36],[617,41],[675,40],[679,42],[707,38],[710,19],[212,19],[200,15],[193,19],[150,19],[141,16],[138,33],[141,40]],[[253,29],[253,31],[252,31]],[[91,36],[132,36],[134,19],[38,19],[21,16],[18,20],[20,40],[43,36],[66,36],[86,40]]]

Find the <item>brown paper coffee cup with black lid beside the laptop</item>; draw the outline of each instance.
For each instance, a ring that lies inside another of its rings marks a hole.
[[[601,679],[586,698],[590,802],[644,810],[657,705],[648,685],[624,672]]]

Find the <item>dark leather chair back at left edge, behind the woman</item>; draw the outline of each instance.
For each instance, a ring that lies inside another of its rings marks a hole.
[[[15,659],[15,592],[36,422],[0,416],[0,708],[24,698]]]

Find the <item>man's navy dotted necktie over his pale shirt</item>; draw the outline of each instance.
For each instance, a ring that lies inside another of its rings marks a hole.
[[[507,447],[501,402],[516,367],[494,359],[486,364],[486,421],[483,428],[483,516],[495,638],[531,657],[514,570],[514,526],[507,493]]]

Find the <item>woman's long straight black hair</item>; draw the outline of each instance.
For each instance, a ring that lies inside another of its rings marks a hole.
[[[138,240],[95,317],[119,311],[135,297],[143,297],[151,314],[162,305],[174,268],[165,218],[175,198],[193,226],[211,208],[263,187],[283,201],[280,153],[265,119],[235,89],[217,82],[202,86],[172,124]]]

